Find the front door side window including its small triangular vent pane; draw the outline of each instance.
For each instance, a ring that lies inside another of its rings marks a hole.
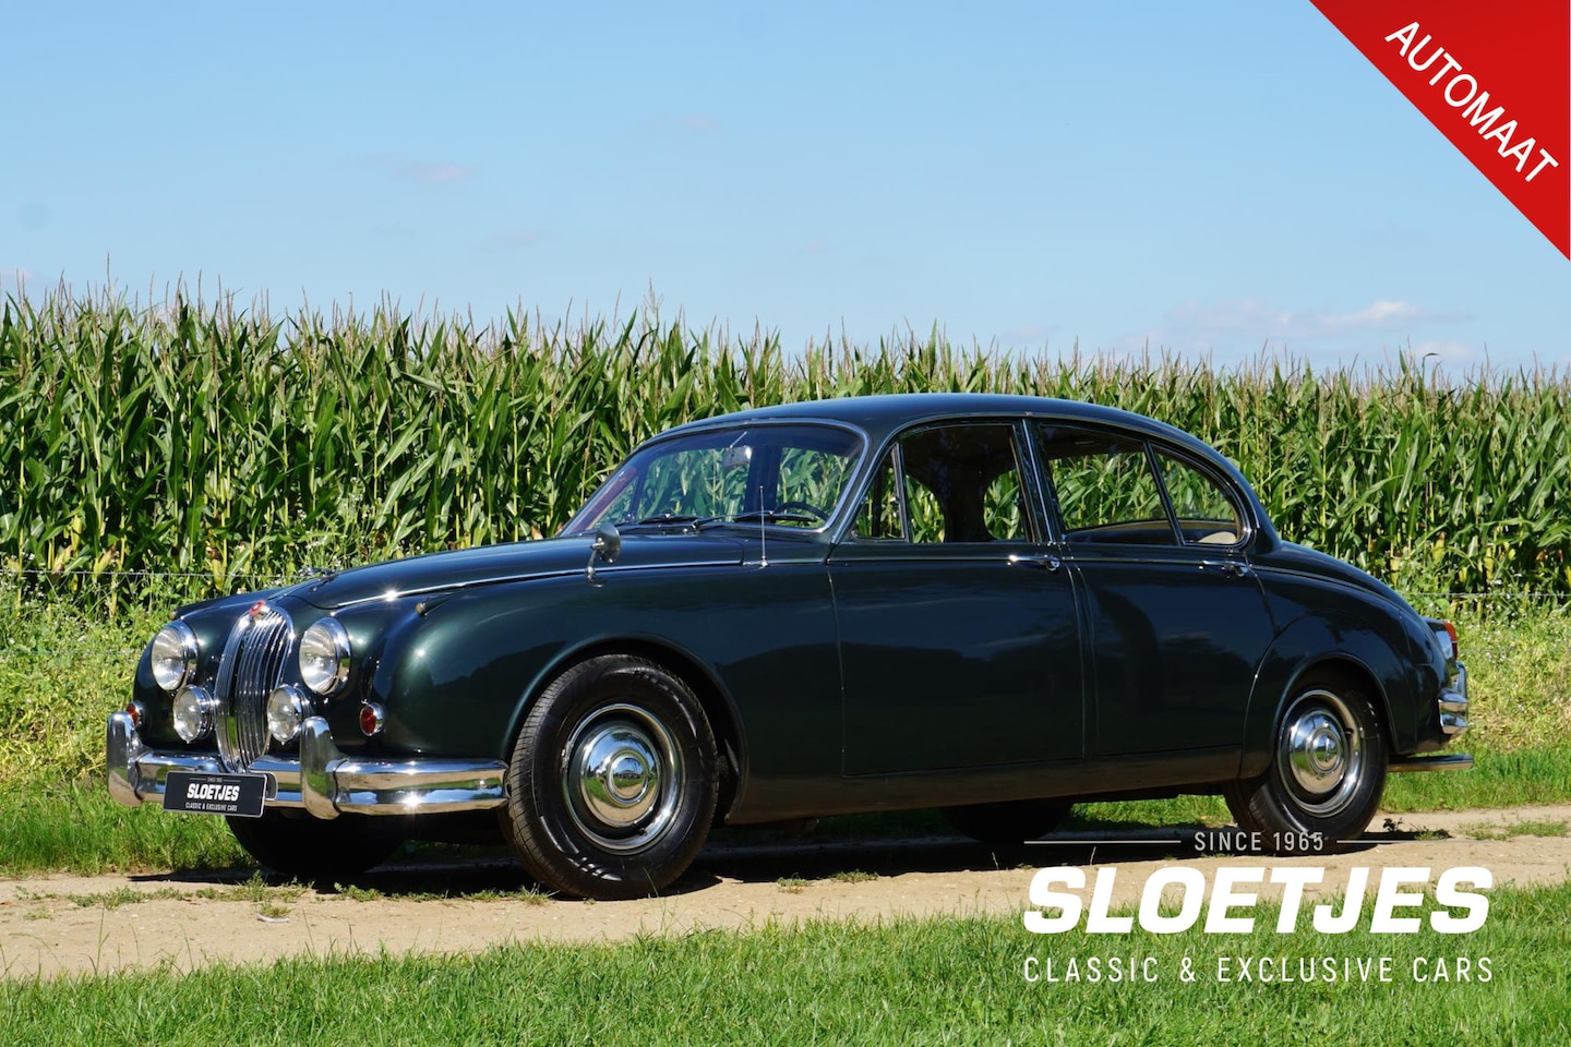
[[[1021,480],[1015,425],[935,425],[900,441],[856,518],[858,538],[910,542],[1029,542],[1034,529]],[[900,531],[903,499],[908,534]]]

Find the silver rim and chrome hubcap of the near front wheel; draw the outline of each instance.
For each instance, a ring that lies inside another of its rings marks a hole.
[[[564,755],[562,797],[595,845],[638,851],[671,824],[682,763],[671,731],[646,710],[595,710],[573,728]]]

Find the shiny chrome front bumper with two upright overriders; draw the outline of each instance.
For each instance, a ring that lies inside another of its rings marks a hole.
[[[148,749],[129,713],[108,717],[108,793],[135,807],[162,799],[170,771],[223,774],[218,753]],[[496,760],[360,760],[344,755],[319,716],[300,727],[300,757],[265,755],[248,771],[267,775],[267,807],[305,808],[316,818],[350,815],[435,815],[507,802]]]

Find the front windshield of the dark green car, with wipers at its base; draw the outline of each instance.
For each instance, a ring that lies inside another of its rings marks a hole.
[[[606,521],[822,527],[861,449],[861,436],[831,425],[753,425],[661,440],[613,472],[562,534]]]

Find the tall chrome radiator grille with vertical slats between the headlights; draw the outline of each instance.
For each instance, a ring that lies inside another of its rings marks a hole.
[[[214,697],[218,753],[231,771],[250,768],[267,750],[267,695],[292,648],[294,622],[267,603],[251,607],[229,631]]]

